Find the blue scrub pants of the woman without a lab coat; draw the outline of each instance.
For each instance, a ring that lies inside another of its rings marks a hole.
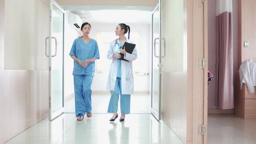
[[[76,117],[91,112],[91,85],[93,77],[89,75],[74,75]]]

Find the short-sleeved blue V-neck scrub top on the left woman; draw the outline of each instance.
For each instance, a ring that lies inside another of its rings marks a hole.
[[[82,38],[77,38],[73,42],[73,46],[69,53],[71,56],[75,56],[79,60],[87,60],[91,58],[100,58],[99,47],[96,40],[91,39],[88,44],[85,44]],[[95,71],[95,61],[90,62],[86,68],[79,65],[78,62],[74,60],[73,75],[89,75],[94,76]]]

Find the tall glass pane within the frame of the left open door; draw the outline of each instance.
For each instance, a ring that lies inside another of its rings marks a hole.
[[[63,107],[63,36],[64,14],[53,5],[52,37],[57,40],[56,56],[52,57],[52,112]],[[55,40],[52,39],[52,55],[55,54]]]

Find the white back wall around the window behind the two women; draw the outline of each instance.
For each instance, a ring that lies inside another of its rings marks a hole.
[[[141,32],[141,50],[138,50],[137,60],[133,62],[133,71],[148,72],[150,64],[150,25],[149,24],[127,24],[131,27],[131,32]],[[97,40],[97,32],[114,32],[117,24],[92,24],[91,37]],[[94,29],[95,28],[95,29]],[[126,36],[128,36],[126,34]],[[130,40],[135,41],[135,38],[130,37]],[[107,47],[108,49],[109,47]],[[99,48],[100,51],[106,50],[106,48]],[[106,64],[111,60],[106,58],[106,55],[101,55],[99,61],[107,60]],[[104,58],[104,59],[103,59]],[[144,66],[144,68],[138,69],[138,66]],[[137,70],[136,70],[137,68]],[[93,79],[92,90],[106,90],[107,77],[109,70],[103,72],[95,72],[96,76]],[[134,91],[149,91],[149,76],[137,76],[134,75]]]

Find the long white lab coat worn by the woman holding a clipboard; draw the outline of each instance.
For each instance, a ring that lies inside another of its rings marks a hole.
[[[126,38],[127,42],[132,43],[131,40]],[[113,54],[115,53],[115,42],[113,40],[110,43],[109,51],[107,54],[107,58],[112,60],[110,71],[109,71],[109,78],[107,80],[107,90],[114,90],[115,89],[115,80],[117,78],[117,58],[113,58]],[[119,44],[119,38],[117,39],[117,44]],[[116,46],[118,46],[116,44]],[[137,58],[137,50],[136,47],[134,48],[132,54],[127,54],[124,56],[124,59],[129,60],[129,62],[121,60],[121,84],[122,84],[122,94],[132,94],[133,93],[133,60]]]

